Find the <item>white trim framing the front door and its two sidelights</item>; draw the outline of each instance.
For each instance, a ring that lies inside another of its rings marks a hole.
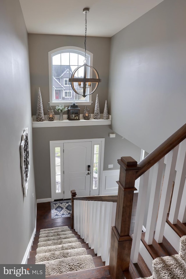
[[[56,175],[55,175],[55,147],[61,147],[61,189],[62,196],[64,198],[64,175],[63,175],[63,144],[70,142],[92,142],[92,150],[94,144],[100,145],[100,164],[99,164],[99,186],[98,189],[92,189],[92,179],[90,183],[90,195],[99,195],[101,192],[102,177],[103,177],[103,159],[104,159],[104,146],[105,138],[96,138],[96,139],[80,139],[80,140],[54,140],[50,141],[50,171],[51,171],[51,200],[54,201],[55,196],[55,186],[56,186]],[[91,157],[91,173],[93,174],[93,155]]]

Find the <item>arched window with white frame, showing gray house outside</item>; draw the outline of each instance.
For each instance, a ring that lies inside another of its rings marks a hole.
[[[93,54],[86,51],[87,64],[92,66]],[[49,51],[49,92],[50,92],[50,104],[69,105],[75,101],[77,104],[90,105],[91,95],[83,96],[76,94],[71,87],[71,83],[68,81],[72,72],[78,67],[84,64],[85,53],[84,49],[79,47],[60,47]],[[78,76],[83,77],[79,72]],[[88,73],[88,78],[92,77],[92,72]],[[91,88],[90,88],[91,90]]]

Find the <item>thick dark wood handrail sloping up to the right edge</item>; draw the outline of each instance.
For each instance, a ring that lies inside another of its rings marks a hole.
[[[173,135],[171,135],[166,141],[146,156],[138,165],[141,167],[136,173],[136,179],[162,159],[167,153],[169,153],[174,147],[186,138],[186,124],[178,129]]]

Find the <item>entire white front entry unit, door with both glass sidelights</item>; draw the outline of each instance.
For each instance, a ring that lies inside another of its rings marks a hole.
[[[51,200],[99,195],[104,138],[50,141]],[[90,171],[88,170],[90,166]]]

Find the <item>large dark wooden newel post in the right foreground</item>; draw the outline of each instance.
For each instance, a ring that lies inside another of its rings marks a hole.
[[[112,227],[109,273],[112,279],[124,278],[123,271],[129,269],[132,239],[130,221],[133,196],[136,190],[135,176],[140,169],[132,157],[121,157],[118,183],[118,198],[115,226]]]

